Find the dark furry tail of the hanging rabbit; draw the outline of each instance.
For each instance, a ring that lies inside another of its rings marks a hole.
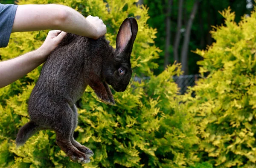
[[[23,145],[30,137],[32,137],[33,134],[35,134],[38,131],[38,125],[35,124],[35,122],[28,122],[25,125],[23,125],[16,138],[16,145],[20,146]]]

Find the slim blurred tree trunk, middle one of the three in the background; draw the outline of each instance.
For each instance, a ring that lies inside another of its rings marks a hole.
[[[174,54],[174,60],[179,62],[179,44],[180,44],[180,29],[182,26],[182,9],[183,9],[183,0],[179,0],[179,11],[178,11],[178,18],[177,18],[177,32],[175,35],[175,42],[173,46],[173,54]]]

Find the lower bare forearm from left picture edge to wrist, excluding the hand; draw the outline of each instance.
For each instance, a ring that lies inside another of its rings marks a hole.
[[[35,50],[12,60],[0,62],[0,88],[15,82],[44,61],[45,57],[41,51]]]

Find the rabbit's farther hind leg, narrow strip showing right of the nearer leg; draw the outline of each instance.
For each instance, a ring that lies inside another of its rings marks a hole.
[[[81,152],[83,152],[84,154],[86,154],[87,157],[91,157],[93,156],[93,151],[91,151],[89,148],[87,148],[84,145],[81,145],[79,142],[77,142],[74,137],[73,137],[73,132],[75,131],[76,127],[77,127],[77,108],[76,105],[74,104],[72,107],[72,111],[73,111],[73,130],[72,130],[72,134],[70,135],[70,140],[71,143]]]

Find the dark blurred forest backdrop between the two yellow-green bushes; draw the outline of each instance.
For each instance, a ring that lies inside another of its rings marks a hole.
[[[198,74],[196,62],[201,60],[202,57],[191,51],[195,51],[196,48],[205,49],[207,45],[211,45],[215,41],[209,34],[209,31],[212,30],[211,26],[224,23],[224,18],[218,11],[227,9],[230,6],[232,11],[236,12],[235,21],[238,23],[241,16],[250,14],[255,1],[141,0],[141,3],[149,7],[148,14],[150,19],[148,24],[157,28],[155,43],[156,46],[163,50],[160,53],[162,59],[159,59],[161,66],[157,69],[157,72],[163,71],[164,65],[177,60],[182,63],[184,74]],[[195,10],[193,11],[193,9]],[[195,16],[193,20],[192,15]],[[192,21],[190,26],[188,25],[189,21]],[[180,25],[178,25],[179,22]],[[189,31],[191,32],[189,33]],[[179,36],[180,38],[178,38]],[[186,41],[188,39],[186,36],[190,36],[188,41]],[[175,43],[178,45],[175,45]],[[177,51],[176,58],[175,51]],[[167,58],[164,59],[165,57]]]

